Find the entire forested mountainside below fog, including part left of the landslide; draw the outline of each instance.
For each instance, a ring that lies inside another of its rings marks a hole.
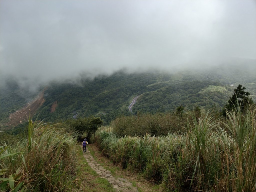
[[[133,114],[173,111],[180,105],[220,110],[239,83],[251,92],[255,101],[255,71],[255,61],[249,60],[168,73],[117,71],[93,79],[81,76],[76,83],[50,82],[44,92],[45,102],[35,115],[48,122],[71,119],[76,114],[77,118],[100,116],[108,124],[121,114],[131,114],[127,108],[135,96],[139,98],[132,108]],[[14,80],[7,80],[5,87],[8,89],[1,91],[1,122],[8,121],[10,113],[35,96],[26,91],[22,94]]]

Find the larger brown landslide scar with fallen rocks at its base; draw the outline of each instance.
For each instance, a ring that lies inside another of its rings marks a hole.
[[[11,113],[9,116],[9,122],[7,123],[8,127],[16,126],[24,121],[27,121],[29,115],[33,116],[37,109],[45,102],[45,90],[46,89],[40,92],[34,100],[27,103],[22,109]]]

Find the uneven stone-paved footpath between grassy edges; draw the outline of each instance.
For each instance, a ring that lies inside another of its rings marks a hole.
[[[96,171],[102,178],[107,179],[110,184],[114,186],[116,191],[122,192],[138,192],[137,187],[133,187],[132,183],[130,183],[127,179],[124,178],[115,178],[111,175],[109,170],[104,169],[90,154],[89,151],[83,154],[89,166]]]

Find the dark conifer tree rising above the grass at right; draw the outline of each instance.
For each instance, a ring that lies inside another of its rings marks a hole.
[[[232,111],[240,108],[241,111],[245,111],[249,105],[253,104],[252,98],[249,98],[251,93],[244,91],[246,88],[241,84],[234,89],[234,94],[229,98],[228,102],[222,110],[222,115],[226,116],[226,110]]]

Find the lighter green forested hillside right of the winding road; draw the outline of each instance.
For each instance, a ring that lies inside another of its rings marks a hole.
[[[238,84],[243,84],[256,100],[256,63],[236,61],[230,65],[195,68],[181,71],[169,77],[168,81],[148,85],[148,92],[142,94],[133,112],[165,112],[179,105],[190,109],[219,109],[225,105]]]

